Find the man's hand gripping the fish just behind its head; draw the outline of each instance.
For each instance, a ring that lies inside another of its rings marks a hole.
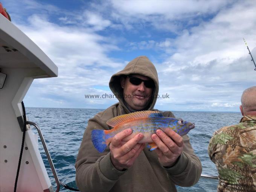
[[[171,129],[166,130],[165,133],[162,130],[156,132],[157,134],[152,135],[152,140],[158,146],[155,149],[158,161],[164,167],[171,167],[183,151],[183,138]]]

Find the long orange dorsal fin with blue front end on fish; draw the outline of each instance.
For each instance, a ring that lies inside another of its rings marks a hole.
[[[107,121],[107,125],[115,127],[120,123],[133,120],[133,119],[142,119],[149,117],[163,117],[162,113],[159,111],[137,111],[134,113],[124,114],[117,117],[113,117]]]

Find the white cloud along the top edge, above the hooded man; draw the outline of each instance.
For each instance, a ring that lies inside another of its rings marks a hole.
[[[202,15],[210,15],[231,1],[111,1],[112,17],[120,21],[126,29],[136,29],[150,23],[155,29],[178,33],[186,25],[198,24]],[[136,26],[136,27],[135,27]]]

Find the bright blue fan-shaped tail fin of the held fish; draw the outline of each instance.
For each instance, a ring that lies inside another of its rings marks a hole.
[[[99,152],[103,152],[108,145],[108,143],[106,142],[106,133],[105,132],[106,132],[105,130],[92,130],[91,131],[91,141],[93,142],[94,147]]]

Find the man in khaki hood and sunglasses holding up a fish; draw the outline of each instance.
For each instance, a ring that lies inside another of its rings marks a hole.
[[[172,130],[167,133],[157,130],[152,140],[158,148],[148,151],[145,144],[138,143],[143,134],[122,142],[132,133],[127,129],[116,134],[103,153],[94,148],[91,131],[110,130],[107,120],[134,111],[154,110],[158,94],[157,71],[146,56],[140,56],[114,74],[109,86],[119,102],[88,121],[75,164],[79,189],[86,192],[169,192],[177,191],[175,184],[194,185],[202,167],[187,135],[180,137]],[[170,111],[162,114],[174,117]]]

